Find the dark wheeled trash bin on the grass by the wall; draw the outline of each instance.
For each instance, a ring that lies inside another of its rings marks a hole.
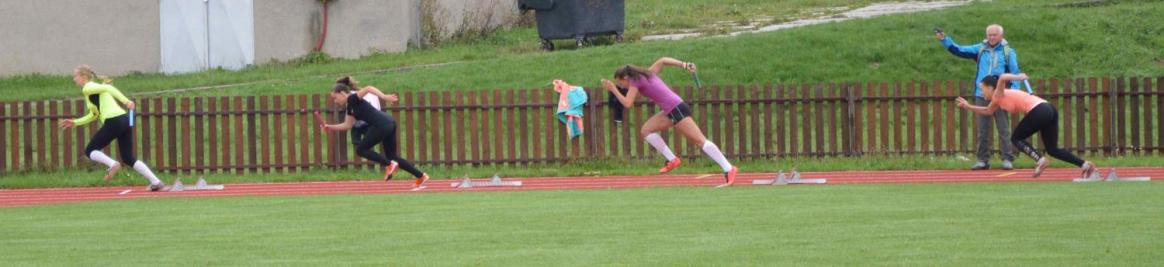
[[[551,40],[573,38],[582,47],[590,37],[615,35],[623,41],[626,10],[623,0],[518,0],[521,12],[534,10],[541,48],[554,50]]]

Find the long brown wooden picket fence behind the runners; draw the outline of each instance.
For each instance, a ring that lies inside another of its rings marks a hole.
[[[1164,147],[1164,77],[1032,80],[1059,111],[1060,146],[1080,153],[1158,154]],[[679,87],[704,134],[733,159],[952,154],[973,150],[971,112],[954,96],[966,82]],[[585,133],[566,138],[549,89],[404,92],[390,105],[400,155],[419,164],[527,164],[585,159],[659,159],[639,138],[658,112],[638,103],[623,124],[606,92],[589,89]],[[163,171],[298,171],[370,166],[346,133],[327,135],[311,113],[342,119],[326,96],[137,98],[135,149]],[[59,119],[81,100],[0,105],[0,171],[91,166],[81,154],[98,124],[70,131]],[[1018,115],[1012,114],[1012,124]],[[683,157],[702,152],[674,131]],[[998,147],[995,136],[995,145]],[[1032,143],[1042,146],[1035,138]],[[111,150],[115,146],[109,146]],[[378,149],[378,148],[377,148]],[[115,149],[112,149],[115,150]]]

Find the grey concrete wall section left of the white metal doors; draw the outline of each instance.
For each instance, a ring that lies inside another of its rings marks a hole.
[[[161,68],[156,0],[0,1],[0,76],[154,72]]]

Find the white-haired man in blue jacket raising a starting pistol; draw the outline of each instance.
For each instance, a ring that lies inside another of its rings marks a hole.
[[[1002,26],[991,24],[986,27],[986,40],[981,43],[975,43],[971,45],[960,45],[953,42],[952,38],[946,37],[945,33],[938,30],[936,33],[938,41],[942,41],[942,47],[950,50],[950,54],[954,56],[974,59],[978,63],[978,75],[974,77],[974,105],[986,106],[989,104],[985,98],[982,98],[982,91],[979,87],[979,83],[982,78],[991,75],[1002,75],[1002,73],[1020,73],[1018,71],[1018,59],[1015,55],[1014,49],[1007,45],[1007,41],[1002,38]],[[1012,82],[1009,89],[1018,90],[1018,82]],[[1029,91],[1029,89],[1028,89]],[[1031,92],[1034,93],[1034,92]],[[972,170],[984,170],[991,168],[991,117],[989,115],[974,115],[977,124],[974,124],[974,131],[978,135],[975,140],[975,153],[978,162],[971,167]],[[1007,112],[1001,108],[994,112],[994,126],[998,128],[999,136],[1002,141],[999,141],[999,148],[1002,150],[1002,169],[1009,170],[1014,166],[1010,163],[1014,161],[1014,147],[1010,142],[1010,119]]]

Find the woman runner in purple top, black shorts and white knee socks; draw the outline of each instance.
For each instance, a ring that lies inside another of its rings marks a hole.
[[[719,147],[703,136],[700,126],[695,125],[695,120],[690,118],[691,107],[687,103],[683,103],[683,99],[679,94],[675,94],[675,91],[667,87],[667,84],[659,78],[659,71],[666,65],[683,68],[691,73],[695,73],[696,70],[694,63],[662,57],[647,69],[634,65],[620,66],[618,70],[615,70],[615,79],[618,82],[618,85],[616,86],[613,82],[608,79],[603,79],[602,85],[618,98],[618,101],[626,108],[634,106],[634,98],[643,94],[643,97],[651,99],[652,103],[659,105],[662,110],[651,115],[639,131],[647,143],[651,143],[655,150],[667,159],[667,163],[662,169],[659,169],[659,173],[668,173],[680,164],[679,157],[670,152],[670,148],[663,142],[662,136],[659,135],[659,132],[675,127],[679,134],[686,136],[691,145],[702,147],[703,152],[723,169],[724,184],[719,187],[732,185],[736,183],[736,175],[739,173],[739,169],[728,162]],[[623,94],[618,90],[619,86],[626,89],[626,94]]]

